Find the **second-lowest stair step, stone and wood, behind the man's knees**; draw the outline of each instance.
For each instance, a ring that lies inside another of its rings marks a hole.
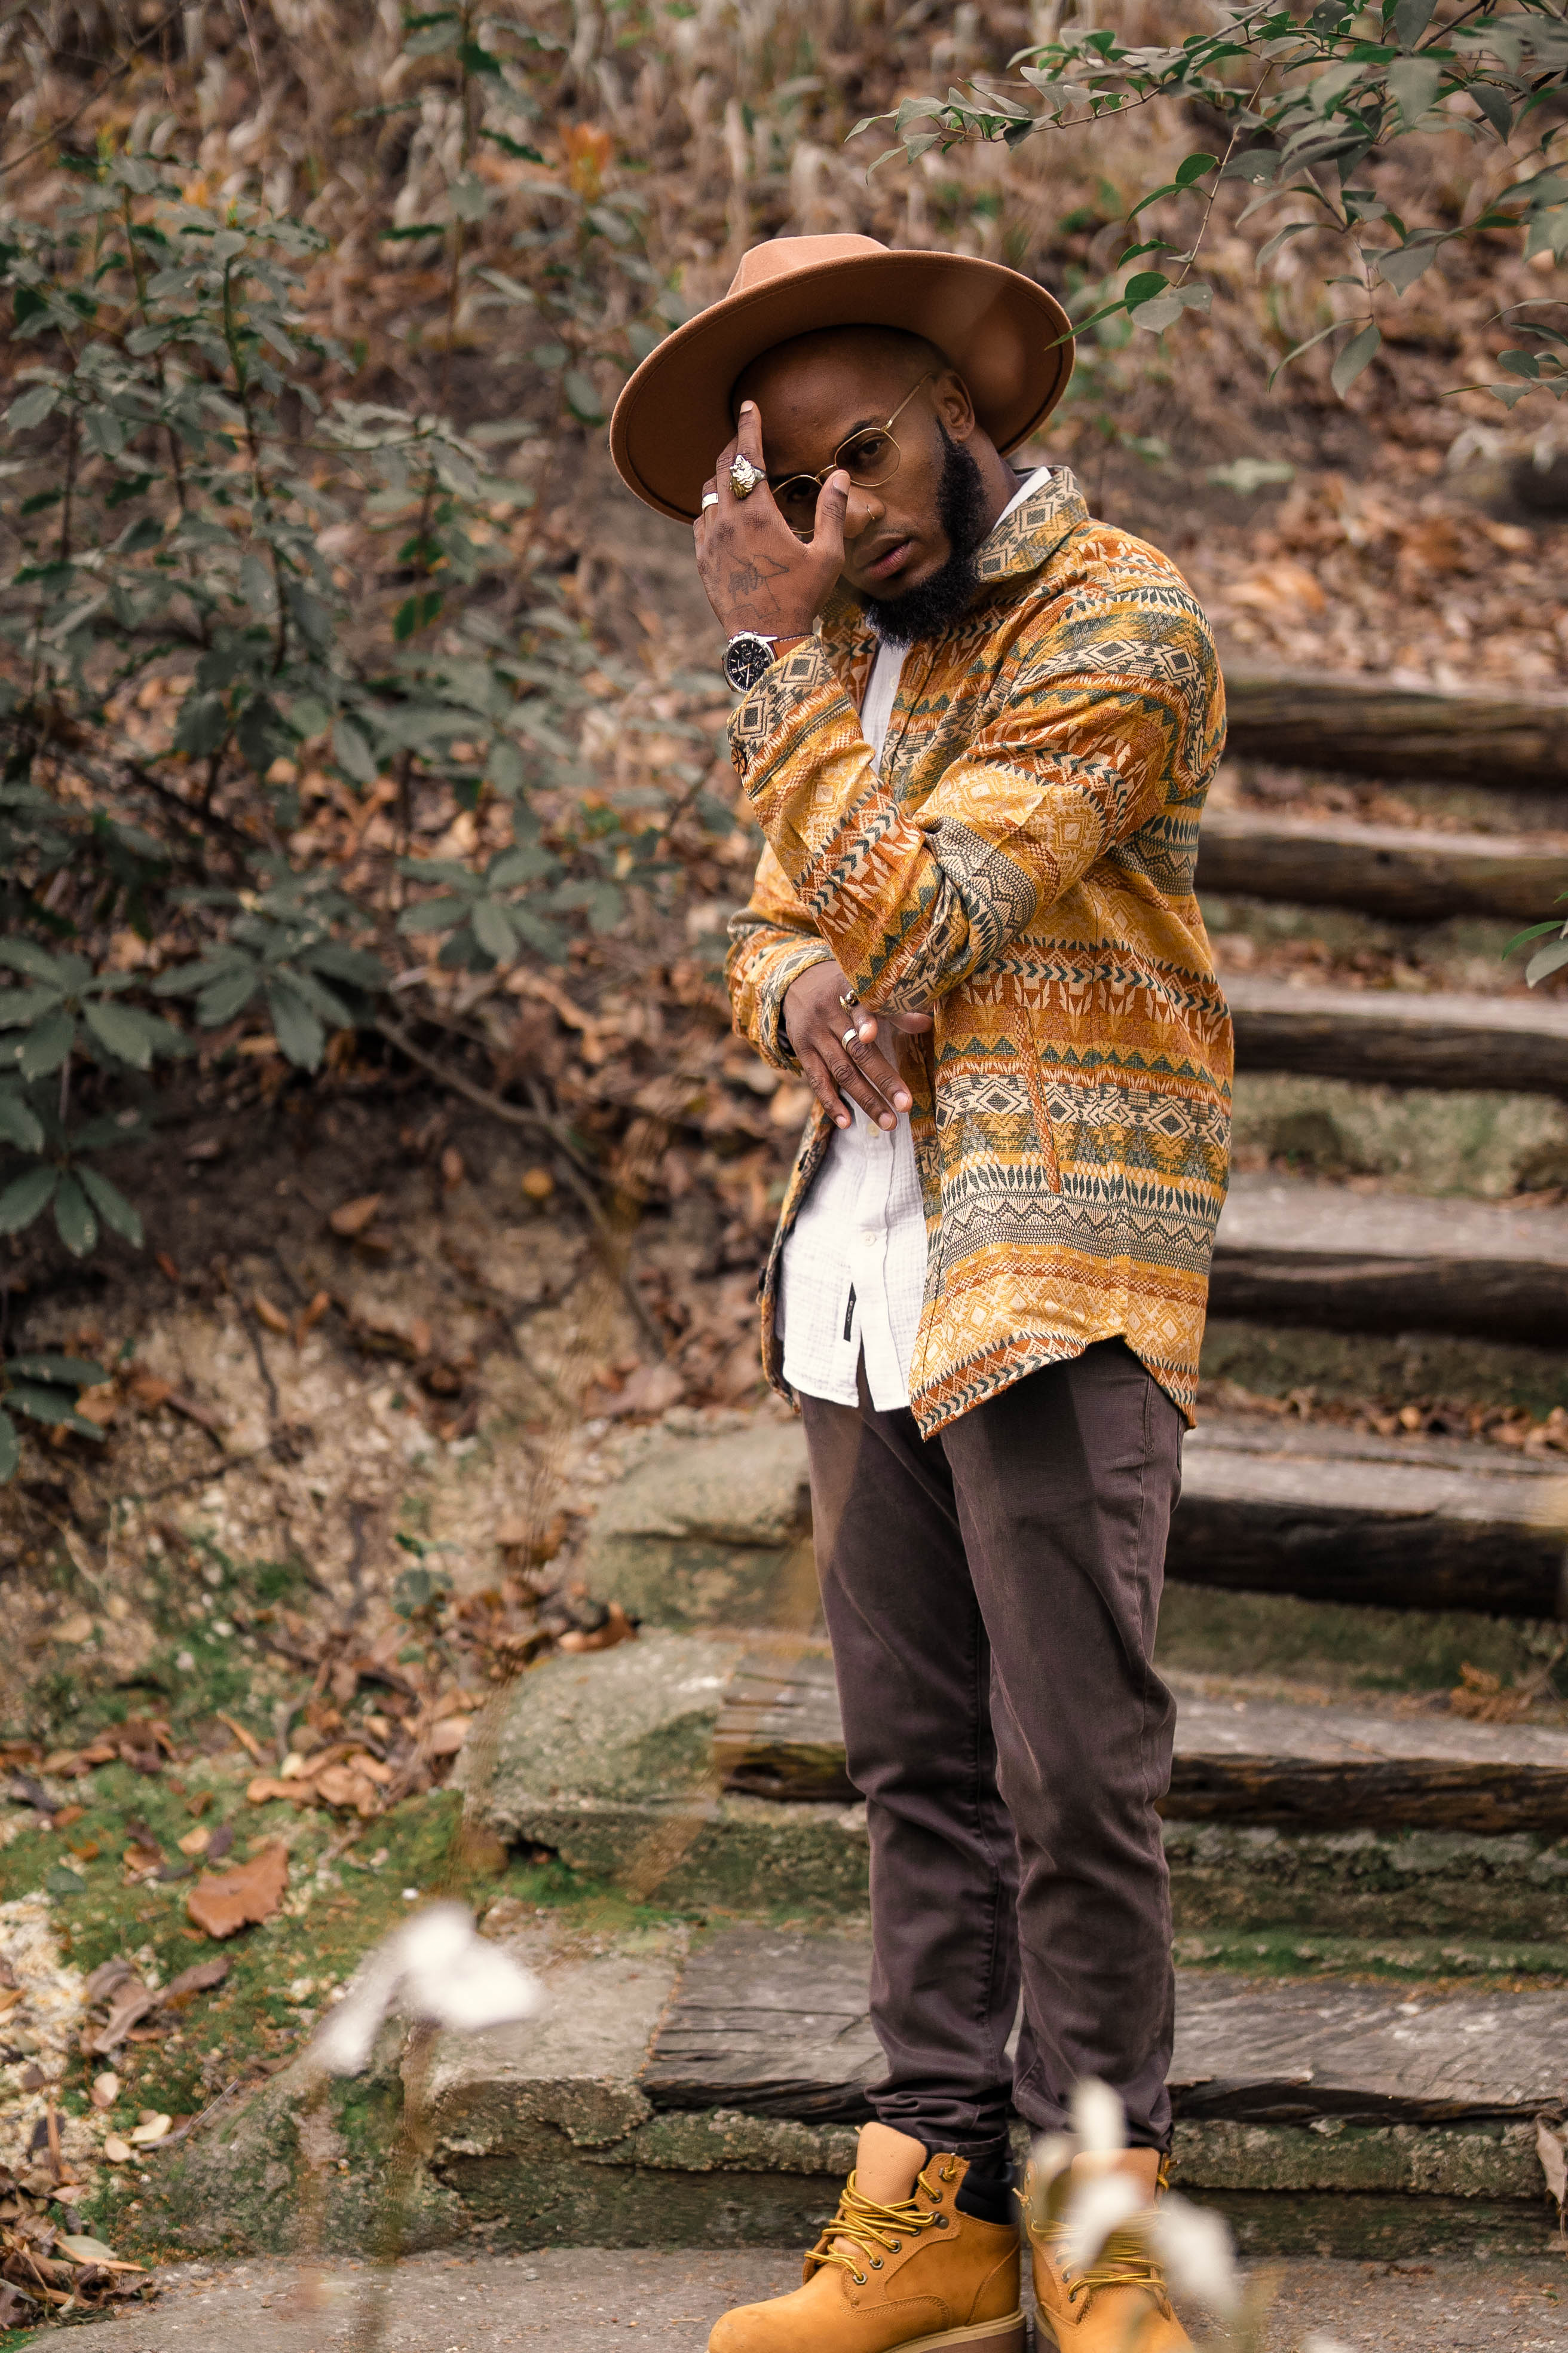
[[[494,1706],[458,1779],[491,1758],[470,1802],[503,1840],[677,1913],[863,1913],[820,1645],[646,1633],[548,1659]],[[1568,1941],[1568,1734],[1201,1692],[1178,1727],[1182,1934]]]

